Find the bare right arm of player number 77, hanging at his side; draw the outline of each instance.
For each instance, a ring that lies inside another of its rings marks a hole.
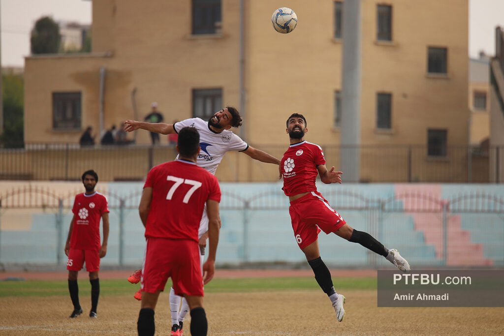
[[[213,199],[207,200],[208,214],[208,259],[203,264],[203,283],[206,285],[215,273],[215,255],[217,253],[217,244],[219,243],[220,217],[219,202]]]

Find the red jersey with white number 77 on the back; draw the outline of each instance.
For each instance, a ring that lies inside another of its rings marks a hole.
[[[145,237],[199,241],[203,209],[208,199],[220,202],[217,177],[196,163],[176,160],[160,164],[147,174],[152,200]]]

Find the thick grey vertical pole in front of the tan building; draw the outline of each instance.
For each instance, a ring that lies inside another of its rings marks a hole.
[[[360,179],[361,0],[343,6],[340,169],[345,182]]]

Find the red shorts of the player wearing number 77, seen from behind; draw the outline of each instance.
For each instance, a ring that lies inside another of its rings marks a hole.
[[[176,295],[203,296],[200,246],[193,240],[148,238],[142,292],[163,291],[168,278]]]

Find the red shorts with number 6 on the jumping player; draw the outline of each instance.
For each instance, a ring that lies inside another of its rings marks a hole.
[[[289,207],[292,229],[300,249],[317,240],[319,232],[336,232],[346,222],[317,191],[293,200]]]

